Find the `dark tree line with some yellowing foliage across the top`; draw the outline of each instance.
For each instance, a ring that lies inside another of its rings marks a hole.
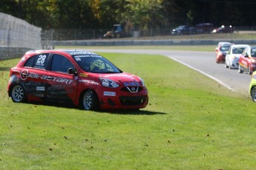
[[[255,0],[1,0],[0,12],[48,29],[134,29],[212,23],[254,26]]]

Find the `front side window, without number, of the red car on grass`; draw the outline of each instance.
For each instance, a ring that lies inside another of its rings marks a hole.
[[[68,72],[68,69],[74,69],[73,64],[62,55],[53,55],[53,61],[51,64],[51,71],[53,72]]]

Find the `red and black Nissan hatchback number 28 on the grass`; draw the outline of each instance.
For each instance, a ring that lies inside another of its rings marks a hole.
[[[26,52],[10,69],[7,92],[13,102],[73,103],[85,110],[141,109],[148,104],[142,78],[82,50]]]

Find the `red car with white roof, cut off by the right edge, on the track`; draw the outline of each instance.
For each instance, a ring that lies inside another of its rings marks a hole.
[[[256,47],[246,47],[238,61],[238,72],[247,72],[249,75],[256,70]]]

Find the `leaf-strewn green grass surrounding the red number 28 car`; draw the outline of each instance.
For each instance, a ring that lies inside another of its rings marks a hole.
[[[140,111],[13,103],[0,61],[0,169],[256,169],[255,103],[161,55],[101,53],[139,75]]]

